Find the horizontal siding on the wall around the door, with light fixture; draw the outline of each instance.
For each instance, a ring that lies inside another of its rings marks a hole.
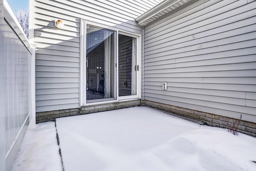
[[[160,0],[35,0],[36,112],[79,107],[80,19],[142,33],[135,18]],[[64,20],[64,28],[54,26]]]

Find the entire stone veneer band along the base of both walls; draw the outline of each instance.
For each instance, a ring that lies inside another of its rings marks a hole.
[[[131,100],[131,101],[106,103],[106,104],[100,104],[100,105],[82,106],[81,108],[76,108],[76,109],[64,109],[64,110],[38,112],[36,113],[36,123],[54,121],[58,117],[83,115],[83,114],[95,113],[100,111],[123,109],[126,107],[134,107],[138,105],[144,105],[144,106],[152,107],[155,109],[160,109],[172,115],[176,115],[178,117],[183,117],[184,119],[189,119],[190,121],[200,123],[201,125],[227,128],[226,123],[233,123],[233,120],[234,120],[233,118],[230,118],[230,117],[215,115],[212,113],[206,113],[202,111],[186,109],[186,108],[167,105],[167,104],[158,103],[154,101],[138,99],[138,100]],[[240,120],[238,125],[238,132],[256,137],[256,123]]]

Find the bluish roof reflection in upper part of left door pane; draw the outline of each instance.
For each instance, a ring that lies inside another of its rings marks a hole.
[[[86,33],[86,54],[91,52],[112,34],[114,34],[113,31],[89,26]]]

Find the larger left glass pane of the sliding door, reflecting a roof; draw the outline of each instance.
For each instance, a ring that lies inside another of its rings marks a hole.
[[[114,99],[114,34],[86,26],[86,101]]]

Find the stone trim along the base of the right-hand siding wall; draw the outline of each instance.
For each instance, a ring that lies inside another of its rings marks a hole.
[[[206,113],[192,109],[186,109],[183,107],[167,105],[149,100],[143,100],[142,105],[152,107],[155,109],[160,109],[169,114],[174,114],[178,117],[194,121],[201,125],[227,128],[227,123],[233,123],[233,121],[238,120],[230,117],[215,115],[212,113]],[[240,120],[238,125],[238,132],[256,137],[256,123]]]

